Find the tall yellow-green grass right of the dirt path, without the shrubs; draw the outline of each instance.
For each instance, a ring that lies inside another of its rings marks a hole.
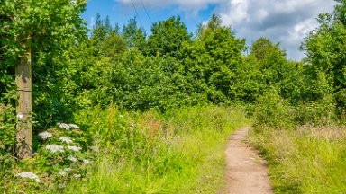
[[[346,128],[257,128],[250,141],[269,162],[275,193],[346,193]]]

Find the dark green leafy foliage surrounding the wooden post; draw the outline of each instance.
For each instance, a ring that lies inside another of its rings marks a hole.
[[[53,123],[51,119],[61,119],[64,114],[68,117],[71,112],[68,101],[59,91],[58,75],[66,66],[62,63],[64,50],[86,38],[85,22],[79,15],[85,10],[85,3],[4,0],[1,4],[0,98],[4,99],[6,93],[14,93],[14,66],[25,54],[32,54],[34,119],[40,121],[40,128],[45,128]],[[5,102],[12,101],[5,98]]]

